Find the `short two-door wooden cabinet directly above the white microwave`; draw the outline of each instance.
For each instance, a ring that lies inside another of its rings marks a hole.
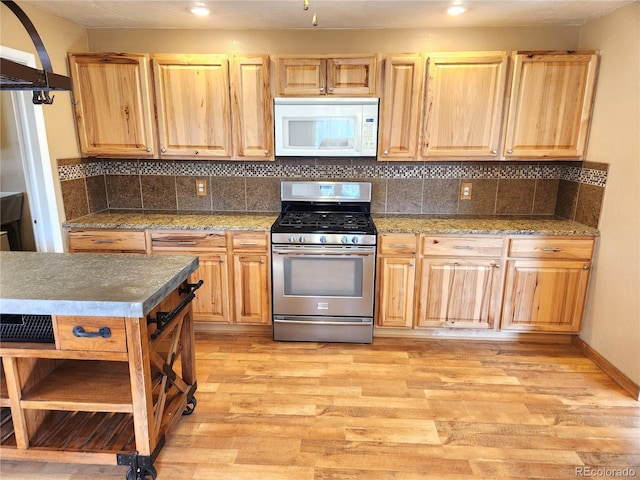
[[[274,57],[277,96],[374,96],[376,57]]]

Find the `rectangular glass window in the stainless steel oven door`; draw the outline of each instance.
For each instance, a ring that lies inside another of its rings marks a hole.
[[[362,270],[362,258],[285,258],[284,294],[359,298]]]

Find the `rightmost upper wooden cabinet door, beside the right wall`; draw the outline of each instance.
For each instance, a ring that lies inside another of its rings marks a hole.
[[[506,159],[584,158],[597,65],[591,52],[515,55]]]

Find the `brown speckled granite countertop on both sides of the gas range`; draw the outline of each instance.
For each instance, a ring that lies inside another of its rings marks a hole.
[[[266,230],[274,213],[94,213],[64,224],[67,228],[130,228],[176,230]],[[373,214],[380,233],[434,233],[486,235],[590,235],[596,228],[549,216],[464,217]]]

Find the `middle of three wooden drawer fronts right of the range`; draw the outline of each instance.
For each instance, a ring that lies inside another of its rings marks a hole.
[[[448,257],[499,257],[502,245],[502,238],[423,235],[421,252],[422,255]]]

